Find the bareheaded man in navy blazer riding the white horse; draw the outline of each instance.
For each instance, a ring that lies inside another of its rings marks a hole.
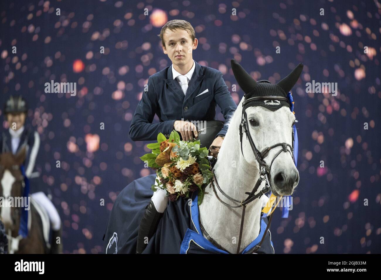
[[[131,139],[156,140],[158,132],[169,137],[174,129],[179,131],[184,141],[192,139],[193,136],[201,137],[201,144],[216,147],[218,150],[227,126],[221,127],[222,124],[218,122],[208,122],[209,127],[203,127],[208,135],[204,132],[199,135],[197,131],[200,128],[192,122],[214,120],[216,104],[221,108],[226,120],[234,113],[237,105],[223,80],[222,73],[201,66],[192,59],[192,50],[197,48],[198,41],[189,22],[167,22],[161,29],[160,38],[163,51],[168,54],[172,66],[149,77],[148,91],[143,93],[131,122]],[[155,114],[161,120],[158,124],[152,123]],[[142,240],[152,236],[166,208],[168,198],[165,193],[164,190],[156,191],[147,205],[139,230],[138,253],[145,247]]]

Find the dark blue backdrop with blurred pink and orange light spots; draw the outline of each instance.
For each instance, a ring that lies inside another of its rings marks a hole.
[[[118,193],[154,172],[139,159],[148,142],[131,141],[128,130],[148,77],[171,65],[157,37],[171,19],[194,26],[199,46],[193,58],[223,72],[230,90],[236,83],[232,58],[256,80],[272,83],[304,64],[293,89],[301,178],[289,218],[274,212],[275,253],[381,253],[378,1],[41,0],[0,6],[0,104],[10,94],[29,102],[28,125],[41,137],[40,187],[52,194],[62,218],[65,253],[103,252]],[[51,80],[76,82],[77,96],[45,93]],[[337,96],[306,93],[312,80],[337,82]],[[242,90],[232,92],[237,103],[242,96]],[[7,129],[3,116],[2,122]]]

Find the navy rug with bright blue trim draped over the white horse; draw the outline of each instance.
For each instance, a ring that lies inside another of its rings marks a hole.
[[[156,174],[134,180],[126,186],[115,200],[104,235],[107,254],[134,254],[138,240],[139,224],[151,197],[151,185]],[[149,240],[143,254],[227,254],[203,237],[200,229],[197,192],[189,198],[169,202],[157,231]],[[261,217],[261,230],[242,253],[247,253],[263,237],[267,218]],[[264,242],[256,253],[273,254],[271,233],[267,232]]]

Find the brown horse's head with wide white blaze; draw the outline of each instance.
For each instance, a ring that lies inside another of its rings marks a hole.
[[[0,219],[6,232],[18,229],[21,205],[12,205],[10,198],[22,197],[23,179],[20,165],[24,162],[26,149],[23,147],[18,154],[4,153],[0,155]],[[15,207],[18,206],[18,207]]]

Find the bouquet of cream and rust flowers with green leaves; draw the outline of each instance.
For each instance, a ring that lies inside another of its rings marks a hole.
[[[156,170],[156,183],[152,190],[164,189],[172,202],[179,197],[190,197],[191,192],[199,190],[198,203],[202,203],[205,187],[213,176],[208,161],[209,151],[200,148],[200,141],[181,141],[173,130],[166,139],[164,134],[157,135],[157,143],[147,145],[151,153],[140,159]]]

